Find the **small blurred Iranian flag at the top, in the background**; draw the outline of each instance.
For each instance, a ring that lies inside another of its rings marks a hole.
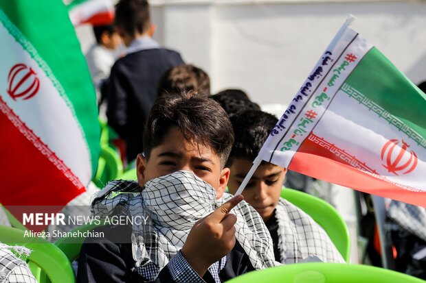
[[[67,8],[73,25],[110,25],[114,20],[112,0],[74,0]]]

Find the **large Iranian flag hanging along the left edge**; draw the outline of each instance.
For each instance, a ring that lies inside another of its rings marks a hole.
[[[0,0],[0,38],[0,203],[58,211],[98,164],[85,58],[62,1]]]

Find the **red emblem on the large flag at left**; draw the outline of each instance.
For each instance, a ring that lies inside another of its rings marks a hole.
[[[8,94],[13,100],[16,98],[30,99],[40,88],[36,72],[25,64],[16,64],[10,69],[8,84]]]

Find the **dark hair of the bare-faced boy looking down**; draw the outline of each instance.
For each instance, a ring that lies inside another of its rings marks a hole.
[[[276,116],[259,110],[245,110],[232,116],[235,141],[226,166],[230,167],[234,158],[254,160],[277,122]]]

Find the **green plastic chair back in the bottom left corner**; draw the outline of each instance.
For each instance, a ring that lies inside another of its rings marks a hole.
[[[22,245],[32,250],[26,261],[38,282],[76,282],[71,262],[58,247],[43,238],[24,236],[24,233],[23,230],[0,225],[0,242],[7,245]]]

